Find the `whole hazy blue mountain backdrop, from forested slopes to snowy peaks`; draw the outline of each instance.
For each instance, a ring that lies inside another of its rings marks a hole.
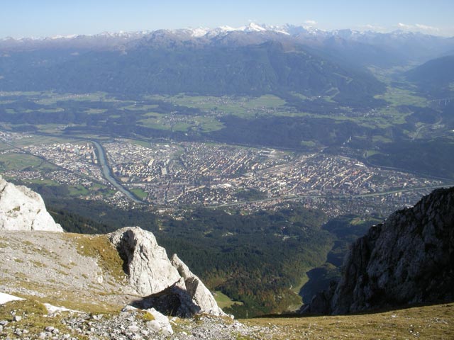
[[[331,32],[301,26],[220,27],[0,40],[0,89],[114,94],[324,96],[374,106],[384,84],[367,67],[421,64],[454,38]]]

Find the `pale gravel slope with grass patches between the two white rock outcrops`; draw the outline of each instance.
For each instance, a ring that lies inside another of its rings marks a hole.
[[[62,303],[76,297],[80,304],[118,309],[136,297],[94,257],[79,254],[77,244],[64,233],[2,232],[0,268],[0,291],[13,295],[52,297]]]

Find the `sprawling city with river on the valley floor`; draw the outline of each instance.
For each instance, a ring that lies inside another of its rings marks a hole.
[[[52,140],[20,132],[0,132],[0,142],[6,178],[66,185],[74,197],[123,208],[146,204],[160,210],[206,206],[252,211],[294,200],[331,216],[387,215],[449,184],[323,150],[304,154],[121,139],[98,141],[97,149],[91,140]]]

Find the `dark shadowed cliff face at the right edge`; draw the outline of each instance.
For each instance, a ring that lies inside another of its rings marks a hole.
[[[337,285],[301,312],[346,314],[454,300],[454,188],[394,212],[350,248]]]

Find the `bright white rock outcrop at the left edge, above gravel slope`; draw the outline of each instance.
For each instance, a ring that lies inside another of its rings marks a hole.
[[[0,230],[63,232],[45,209],[43,198],[0,176]]]

